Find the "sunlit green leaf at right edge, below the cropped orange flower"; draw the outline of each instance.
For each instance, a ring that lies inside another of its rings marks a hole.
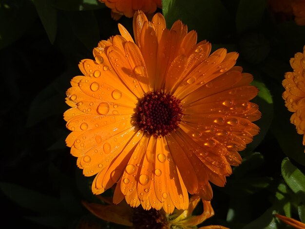
[[[305,193],[305,175],[291,163],[288,157],[282,161],[282,176],[294,193]]]

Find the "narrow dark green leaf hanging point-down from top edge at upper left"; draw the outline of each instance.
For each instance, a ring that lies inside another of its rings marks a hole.
[[[52,44],[57,32],[57,11],[45,0],[34,0],[36,10]]]

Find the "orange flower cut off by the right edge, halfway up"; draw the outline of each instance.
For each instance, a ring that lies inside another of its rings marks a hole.
[[[287,72],[282,84],[286,91],[283,93],[285,106],[288,111],[293,112],[290,122],[296,126],[298,134],[305,132],[305,46],[303,53],[296,53],[290,59],[293,72]],[[303,145],[305,136],[303,135]]]

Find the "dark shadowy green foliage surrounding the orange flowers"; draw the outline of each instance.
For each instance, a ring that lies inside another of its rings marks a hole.
[[[213,186],[216,214],[204,224],[286,228],[274,212],[305,223],[302,136],[281,97],[284,73],[292,71],[289,59],[303,51],[305,26],[278,20],[267,0],[163,0],[158,12],[168,27],[181,19],[213,50],[239,52],[237,64],[260,89],[261,133],[241,152],[243,164],[225,188]],[[62,114],[70,79],[80,74],[78,62],[93,57],[100,39],[118,34],[118,22],[132,32],[132,19],[114,21],[97,0],[0,0],[0,21],[2,226],[74,229],[87,222],[122,228],[81,205],[97,199],[92,178],[76,168],[65,146]]]

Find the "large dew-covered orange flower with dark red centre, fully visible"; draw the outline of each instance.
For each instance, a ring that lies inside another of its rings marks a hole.
[[[210,54],[179,20],[169,30],[161,14],[150,22],[137,12],[135,42],[118,26],[121,36],[99,42],[66,93],[77,166],[96,175],[95,194],[117,184],[114,203],[171,213],[188,208],[188,192],[210,200],[210,182],[225,185],[259,132],[252,75],[234,67],[237,53]]]

